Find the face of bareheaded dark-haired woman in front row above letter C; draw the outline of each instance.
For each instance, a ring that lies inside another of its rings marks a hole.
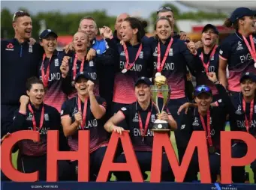
[[[41,105],[45,94],[44,85],[32,84],[32,87],[29,91],[27,91],[27,94],[29,96],[30,102],[32,102],[33,105]]]

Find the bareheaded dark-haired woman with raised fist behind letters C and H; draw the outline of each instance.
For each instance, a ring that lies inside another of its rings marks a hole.
[[[65,136],[62,132],[59,111],[44,104],[44,84],[32,77],[26,83],[27,95],[20,96],[20,108],[14,114],[10,132],[32,130],[39,132],[40,141],[19,141],[21,165],[18,170],[23,173],[39,171],[39,180],[47,179],[47,131],[59,130],[59,150],[67,150]],[[68,180],[68,162],[58,161],[59,180]]]

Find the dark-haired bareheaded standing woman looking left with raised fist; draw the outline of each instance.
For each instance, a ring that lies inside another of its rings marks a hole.
[[[115,43],[110,28],[101,28],[107,43]],[[113,90],[113,114],[125,105],[136,101],[134,84],[140,76],[150,76],[150,49],[143,43],[145,30],[139,19],[128,17],[122,22],[120,33],[122,44],[116,44],[119,63],[116,63],[116,76]],[[110,40],[112,39],[112,40]],[[122,123],[125,127],[126,124]]]

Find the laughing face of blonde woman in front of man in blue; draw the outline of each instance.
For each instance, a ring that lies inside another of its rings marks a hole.
[[[76,52],[85,52],[89,43],[88,36],[82,31],[78,31],[74,34],[73,45]]]

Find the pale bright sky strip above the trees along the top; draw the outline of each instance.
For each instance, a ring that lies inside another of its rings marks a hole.
[[[1,1],[1,8],[7,7],[11,12],[20,7],[26,7],[29,13],[59,10],[61,12],[83,12],[93,10],[107,10],[109,15],[117,16],[120,13],[130,13],[147,18],[167,1]],[[182,12],[191,10],[179,2],[168,1],[179,7]],[[135,16],[134,15],[134,16]]]

